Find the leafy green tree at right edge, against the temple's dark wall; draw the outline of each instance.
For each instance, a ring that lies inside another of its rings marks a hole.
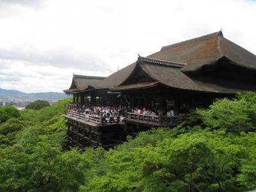
[[[240,93],[234,100],[216,100],[209,109],[198,109],[196,112],[210,129],[225,129],[233,133],[255,131],[255,93]]]

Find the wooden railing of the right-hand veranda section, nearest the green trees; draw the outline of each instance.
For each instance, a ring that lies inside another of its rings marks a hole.
[[[143,115],[138,113],[127,113],[125,120],[129,122],[137,122],[148,125],[178,125],[184,122],[188,115],[177,116],[158,116],[158,115]]]

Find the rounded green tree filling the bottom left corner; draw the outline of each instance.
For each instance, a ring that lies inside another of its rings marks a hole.
[[[77,150],[40,142],[29,153],[22,145],[0,150],[0,191],[78,191],[87,163]]]

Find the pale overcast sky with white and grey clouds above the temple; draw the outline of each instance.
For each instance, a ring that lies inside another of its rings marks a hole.
[[[0,0],[0,88],[62,92],[222,29],[256,54],[256,1]]]

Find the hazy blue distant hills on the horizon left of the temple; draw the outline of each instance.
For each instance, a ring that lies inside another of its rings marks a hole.
[[[42,93],[24,93],[18,90],[5,90],[0,88],[1,99],[22,99],[22,100],[60,100],[68,98],[65,93],[42,92]]]

